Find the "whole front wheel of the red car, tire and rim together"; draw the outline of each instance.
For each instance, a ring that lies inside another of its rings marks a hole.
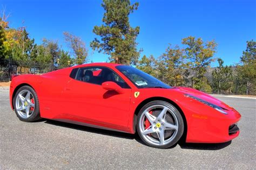
[[[145,144],[156,148],[175,145],[184,132],[184,122],[176,107],[166,101],[147,103],[138,113],[137,132]]]

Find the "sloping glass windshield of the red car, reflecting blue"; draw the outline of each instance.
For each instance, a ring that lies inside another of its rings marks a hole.
[[[162,88],[171,89],[172,87],[163,83],[162,81],[150,76],[141,70],[138,70],[132,66],[118,65],[117,70],[122,72],[127,78],[129,78],[134,85],[138,88]]]

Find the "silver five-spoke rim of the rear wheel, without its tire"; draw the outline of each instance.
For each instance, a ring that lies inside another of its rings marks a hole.
[[[22,90],[16,97],[16,110],[24,119],[29,118],[35,110],[33,94],[29,90]]]

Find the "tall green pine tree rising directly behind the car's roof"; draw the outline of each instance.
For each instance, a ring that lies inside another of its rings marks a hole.
[[[95,26],[93,33],[101,37],[95,38],[90,46],[93,50],[110,55],[111,62],[136,65],[139,54],[136,38],[139,34],[139,26],[132,28],[129,15],[138,9],[139,4],[131,5],[130,0],[103,0],[105,13],[103,25]]]

